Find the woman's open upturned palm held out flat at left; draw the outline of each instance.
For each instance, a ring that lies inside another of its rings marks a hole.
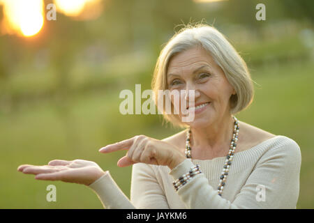
[[[87,160],[52,160],[44,166],[23,164],[17,171],[35,174],[38,180],[61,180],[84,185],[90,185],[105,174],[96,162]]]

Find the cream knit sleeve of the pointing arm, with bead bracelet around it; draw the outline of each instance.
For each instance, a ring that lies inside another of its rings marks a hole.
[[[176,180],[193,165],[184,160],[170,175]],[[220,197],[204,174],[193,177],[177,192],[187,208],[296,208],[300,168],[300,148],[289,139],[260,157],[233,202]],[[264,197],[260,197],[262,192]]]

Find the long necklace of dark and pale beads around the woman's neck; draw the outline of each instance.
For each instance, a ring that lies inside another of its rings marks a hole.
[[[221,172],[220,180],[219,180],[219,185],[218,185],[218,195],[221,196],[223,194],[223,187],[225,186],[225,180],[227,179],[227,175],[230,169],[230,165],[232,162],[232,158],[234,155],[234,150],[237,147],[237,141],[238,141],[238,135],[239,135],[239,122],[236,117],[232,116],[234,119],[234,130],[233,130],[233,136],[231,139],[231,144],[230,144],[230,150],[229,153],[226,157],[225,164],[223,165],[223,171]],[[190,128],[188,128],[188,131],[186,132],[186,157],[188,159],[191,159],[190,155]]]

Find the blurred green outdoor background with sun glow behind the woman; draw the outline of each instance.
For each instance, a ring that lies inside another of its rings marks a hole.
[[[47,19],[50,3],[56,20]],[[224,33],[251,70],[255,100],[237,118],[299,144],[297,208],[314,208],[313,9],[311,0],[0,0],[0,208],[103,208],[84,185],[17,172],[54,159],[97,162],[129,197],[131,167],[117,167],[126,152],[98,149],[181,130],[159,115],[120,114],[119,93],[150,89],[163,44],[200,21]],[[56,202],[46,201],[50,184]]]

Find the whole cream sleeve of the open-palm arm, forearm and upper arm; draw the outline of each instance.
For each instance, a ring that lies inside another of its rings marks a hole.
[[[137,163],[132,167],[130,198],[120,190],[109,171],[89,187],[96,192],[103,207],[107,209],[169,209],[167,199],[156,179],[154,169],[148,164]]]

